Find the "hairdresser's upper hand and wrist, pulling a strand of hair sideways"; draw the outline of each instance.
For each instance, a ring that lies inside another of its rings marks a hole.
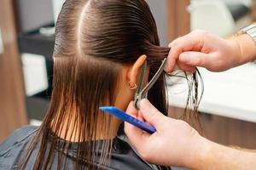
[[[256,45],[247,34],[223,39],[207,31],[192,31],[170,43],[167,72],[173,65],[185,71],[195,71],[195,66],[209,71],[226,71],[256,59]]]

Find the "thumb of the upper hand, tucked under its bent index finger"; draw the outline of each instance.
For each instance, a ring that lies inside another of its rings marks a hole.
[[[210,59],[210,54],[204,54],[201,52],[184,52],[179,55],[179,62],[185,65],[191,66],[207,66],[207,59]]]

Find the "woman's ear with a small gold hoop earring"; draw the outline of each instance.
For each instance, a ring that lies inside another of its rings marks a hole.
[[[146,55],[140,56],[137,59],[137,61],[133,65],[131,65],[131,67],[129,68],[129,71],[127,72],[127,81],[128,81],[128,84],[130,84],[129,86],[131,86],[131,84],[134,84],[135,86],[137,86],[137,79],[140,76],[140,71],[146,59],[147,59]]]

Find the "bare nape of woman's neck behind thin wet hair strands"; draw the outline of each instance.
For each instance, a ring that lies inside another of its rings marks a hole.
[[[69,112],[66,113],[66,116],[62,117],[60,114],[56,114],[51,122],[51,129],[58,137],[70,142],[113,139],[117,135],[121,122],[118,119],[111,117],[111,121],[108,124],[104,123],[103,120],[106,120],[106,117],[104,116],[105,115],[99,116],[100,118],[96,120],[96,126],[86,126],[86,129],[82,123],[84,120],[82,121],[81,118],[79,118],[81,116],[78,116],[78,114]],[[56,124],[61,124],[60,128],[57,128]],[[104,124],[106,124],[106,126],[104,126]],[[88,128],[90,128],[92,132],[90,132]],[[89,133],[91,134],[90,137],[82,138],[83,135],[88,136]]]

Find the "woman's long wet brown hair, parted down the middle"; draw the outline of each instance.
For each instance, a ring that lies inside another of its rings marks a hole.
[[[146,54],[150,79],[169,50],[160,47],[154,17],[144,0],[67,0],[55,29],[49,111],[24,156],[21,169],[26,167],[38,144],[33,169],[50,169],[55,159],[58,169],[67,168],[65,153],[73,143],[60,143],[58,137],[67,129],[79,139],[72,156],[75,169],[108,167],[112,139],[104,140],[99,147],[96,132],[110,136],[112,118],[102,114],[99,106],[114,105],[113,93],[118,88],[122,65],[132,64]],[[196,77],[192,82],[196,82]],[[164,74],[148,92],[148,99],[167,115]],[[76,121],[72,122],[74,116]],[[96,157],[100,157],[98,162]]]

